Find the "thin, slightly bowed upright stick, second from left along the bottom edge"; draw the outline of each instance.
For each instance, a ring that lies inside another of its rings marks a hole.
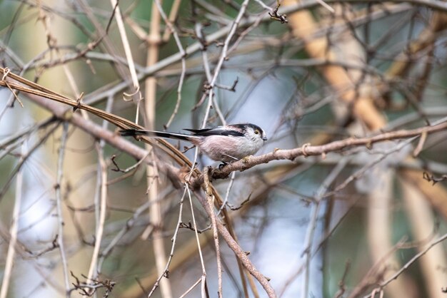
[[[64,284],[65,284],[65,295],[67,298],[70,297],[70,282],[69,282],[69,266],[66,262],[66,252],[64,246],[64,215],[62,213],[62,195],[61,195],[61,185],[62,177],[64,175],[64,157],[65,157],[65,146],[69,135],[69,123],[64,122],[62,126],[62,138],[61,147],[59,148],[59,159],[57,162],[57,172],[56,172],[56,212],[58,218],[58,237],[57,244],[59,246],[59,253],[61,254],[62,269],[64,272]]]

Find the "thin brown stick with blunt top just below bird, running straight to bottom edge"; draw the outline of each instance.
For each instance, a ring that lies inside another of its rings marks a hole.
[[[206,192],[206,199],[208,201],[208,208],[209,212],[208,214],[211,217],[211,227],[213,228],[213,239],[214,239],[214,245],[216,246],[216,260],[217,260],[217,295],[219,298],[223,297],[222,295],[222,260],[221,260],[221,248],[219,245],[219,232],[217,231],[216,227],[216,213],[214,212],[214,196],[213,191],[211,190],[210,181],[209,181],[209,173],[210,168],[204,169],[204,184],[205,184],[205,192]]]

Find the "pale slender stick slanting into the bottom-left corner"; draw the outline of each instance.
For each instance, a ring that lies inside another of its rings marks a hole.
[[[21,147],[21,162],[24,162],[26,142]],[[16,200],[14,201],[14,211],[12,214],[11,228],[9,229],[8,253],[6,254],[6,262],[3,272],[3,280],[1,282],[0,298],[6,298],[9,289],[9,282],[11,281],[12,266],[14,264],[14,255],[16,255],[17,230],[19,230],[19,216],[22,200],[23,173],[19,170],[16,174]]]

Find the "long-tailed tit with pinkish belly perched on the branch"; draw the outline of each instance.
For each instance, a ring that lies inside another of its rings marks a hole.
[[[187,140],[199,147],[212,160],[223,163],[231,163],[248,155],[253,155],[267,140],[263,129],[250,123],[185,130],[191,131],[192,134],[136,129],[121,130],[120,133],[123,136],[148,135],[154,138]]]

